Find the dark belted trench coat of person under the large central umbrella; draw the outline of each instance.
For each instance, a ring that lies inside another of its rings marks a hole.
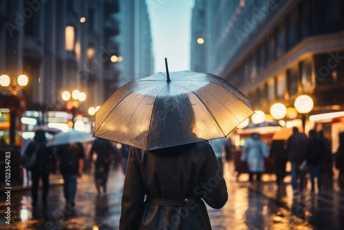
[[[211,229],[204,201],[220,209],[227,199],[208,142],[155,151],[131,147],[120,229]]]

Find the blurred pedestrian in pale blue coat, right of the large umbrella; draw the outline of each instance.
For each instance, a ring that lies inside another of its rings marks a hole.
[[[268,147],[266,143],[261,140],[258,133],[253,133],[244,144],[244,152],[241,155],[241,160],[248,164],[248,174],[250,182],[253,182],[254,176],[259,182],[261,174],[264,171],[264,159],[269,156]]]

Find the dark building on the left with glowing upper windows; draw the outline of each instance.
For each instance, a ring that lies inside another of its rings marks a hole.
[[[85,92],[87,108],[116,90],[118,1],[2,1],[0,72],[25,73],[28,110],[63,109],[61,93]],[[103,90],[97,90],[102,88]]]

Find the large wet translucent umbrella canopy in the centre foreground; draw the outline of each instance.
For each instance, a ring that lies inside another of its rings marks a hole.
[[[161,149],[225,137],[253,113],[248,98],[218,76],[158,72],[112,94],[96,113],[94,136]]]

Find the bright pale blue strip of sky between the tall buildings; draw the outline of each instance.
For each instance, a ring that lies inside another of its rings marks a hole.
[[[147,0],[155,72],[190,69],[191,12],[193,0]]]

